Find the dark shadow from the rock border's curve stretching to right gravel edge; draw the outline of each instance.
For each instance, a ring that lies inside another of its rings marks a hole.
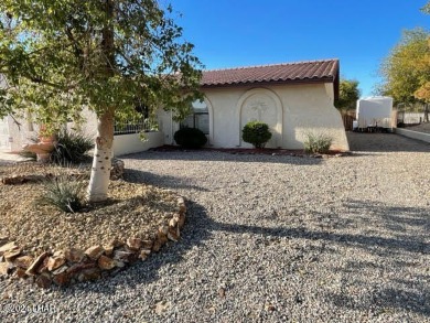
[[[362,205],[361,208],[357,208],[357,204]],[[354,225],[354,218],[356,218],[355,220],[357,222],[355,225],[359,224],[362,219],[356,217],[356,215],[362,212],[364,214],[368,212],[368,217],[370,219],[376,218],[376,226],[381,227],[388,224],[398,223],[399,225],[404,224],[420,227],[420,230],[423,230],[423,228],[428,228],[430,222],[430,217],[424,216],[427,209],[423,208],[384,207],[379,204],[367,202],[359,203],[357,201],[354,201],[352,205],[355,206],[355,208],[352,208],[352,213],[347,215],[336,215],[341,218],[343,216],[351,216],[353,220],[347,222],[351,225]],[[333,228],[318,229],[318,224],[315,227],[315,223],[304,224],[304,227],[291,227],[290,223],[286,223],[284,226],[272,228],[259,225],[216,222],[207,215],[204,206],[194,202],[187,202],[187,219],[179,243],[169,243],[159,254],[151,255],[147,261],[138,262],[135,266],[127,268],[125,271],[119,272],[116,277],[108,277],[105,281],[97,281],[94,283],[76,284],[68,289],[61,290],[61,292],[64,293],[65,297],[78,297],[82,293],[89,292],[103,294],[104,298],[109,299],[108,295],[115,294],[118,290],[133,288],[137,284],[139,284],[140,288],[141,286],[147,287],[151,284],[151,282],[161,280],[161,274],[170,274],[170,283],[178,282],[180,284],[182,281],[181,279],[184,274],[187,274],[187,272],[178,272],[174,265],[182,261],[190,261],[183,257],[189,250],[192,250],[196,246],[203,246],[201,248],[202,252],[211,252],[211,250],[205,249],[205,241],[213,237],[213,233],[219,230],[235,235],[258,235],[269,239],[271,237],[284,237],[290,239],[323,240],[325,244],[322,247],[321,252],[333,252],[331,245],[335,244],[346,248],[363,248],[368,254],[376,252],[378,257],[384,259],[381,263],[374,263],[362,259],[357,259],[354,263],[347,263],[347,261],[345,261],[346,268],[338,268],[338,270],[345,270],[345,272],[352,271],[353,277],[363,274],[364,271],[362,270],[364,270],[364,268],[369,268],[368,270],[370,271],[384,271],[387,263],[389,266],[395,266],[396,268],[402,268],[406,265],[401,261],[398,263],[396,262],[396,252],[402,252],[402,257],[407,257],[407,261],[410,259],[410,262],[413,262],[417,258],[428,255],[430,250],[427,238],[421,235],[416,235],[416,233],[410,229],[407,232],[408,235],[406,235],[404,228],[396,226],[388,225],[387,227],[384,227],[385,230],[381,230],[380,235],[342,233],[342,227],[336,227],[336,232],[333,233]],[[321,216],[319,217],[318,214],[315,214],[315,222],[319,222],[319,218],[321,219]],[[297,223],[293,224],[297,225]],[[401,232],[402,236],[397,238],[387,237],[387,233],[395,235],[397,232]],[[282,252],[282,250],[280,250],[280,252]],[[341,255],[342,254],[338,256],[342,257]],[[411,265],[409,263],[409,266]],[[160,273],[161,270],[162,273]],[[321,290],[320,295],[326,298],[327,302],[332,302],[337,308],[359,310],[364,313],[368,313],[372,308],[372,313],[375,315],[383,313],[386,309],[389,311],[391,308],[429,316],[430,302],[426,299],[430,293],[429,287],[420,286],[419,291],[411,291],[407,287],[408,283],[413,283],[413,277],[405,277],[404,282],[393,279],[393,283],[390,283],[389,288],[374,284],[366,280],[358,282],[358,289],[368,290],[368,293],[366,293],[364,299],[330,290],[326,292]],[[421,277],[421,279],[423,281],[428,280],[426,277]],[[171,289],[173,286],[166,288]],[[162,291],[160,291],[160,293],[162,294]],[[160,295],[153,295],[150,301],[146,299],[142,300],[142,302],[155,302],[158,297]],[[126,305],[129,299],[127,295],[125,295],[123,299],[115,299],[115,303],[118,306]]]

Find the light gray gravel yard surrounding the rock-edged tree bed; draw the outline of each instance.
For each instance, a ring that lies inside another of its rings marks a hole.
[[[97,283],[0,281],[0,321],[430,322],[430,147],[350,139],[329,159],[128,155],[128,180],[191,201],[181,241]]]

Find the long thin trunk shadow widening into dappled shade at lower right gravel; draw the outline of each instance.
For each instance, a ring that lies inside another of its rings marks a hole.
[[[348,201],[345,204],[347,207],[345,214],[332,214],[327,227],[320,226],[321,229],[318,228],[319,224],[326,218],[327,214],[318,212],[313,213],[312,223],[301,227],[293,227],[297,226],[294,219],[277,228],[217,222],[211,222],[208,227],[237,235],[322,240],[325,243],[322,252],[333,252],[331,248],[333,245],[351,247],[351,250],[361,248],[370,256],[368,259],[375,259],[376,256],[379,261],[366,260],[367,257],[357,258],[354,261],[345,261],[345,267],[336,267],[336,270],[345,272],[347,287],[354,286],[356,291],[365,291],[365,295],[357,297],[346,291],[333,292],[329,289],[320,291],[324,299],[337,308],[370,312],[376,316],[404,310],[430,317],[430,302],[428,302],[430,288],[426,284],[430,276],[419,274],[420,271],[426,270],[422,267],[426,266],[424,257],[430,254],[428,209],[387,206],[363,201]],[[372,229],[372,234],[362,234],[362,228],[363,232]],[[346,233],[350,229],[353,229],[353,233]],[[401,281],[398,277],[391,279],[384,277],[389,280],[385,286],[368,281],[366,279],[368,272],[387,272],[387,274],[405,272],[406,274]],[[351,278],[353,281],[350,281]]]

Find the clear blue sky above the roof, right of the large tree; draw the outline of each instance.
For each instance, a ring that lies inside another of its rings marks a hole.
[[[429,29],[427,0],[171,0],[207,69],[338,58],[369,96],[405,29]]]

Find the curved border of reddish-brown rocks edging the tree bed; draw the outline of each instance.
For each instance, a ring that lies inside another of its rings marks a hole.
[[[0,237],[0,277],[30,278],[40,288],[50,288],[53,282],[63,287],[116,273],[138,259],[146,260],[152,252],[158,252],[168,240],[178,241],[185,213],[185,201],[178,196],[178,211],[169,223],[159,227],[153,239],[115,239],[107,246],[96,245],[86,250],[44,251],[36,258],[22,254],[15,241]]]

